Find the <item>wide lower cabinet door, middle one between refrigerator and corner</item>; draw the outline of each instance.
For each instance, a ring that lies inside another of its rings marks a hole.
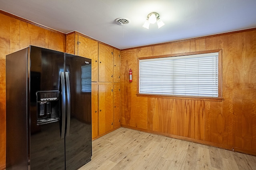
[[[99,135],[114,129],[112,85],[99,85]]]

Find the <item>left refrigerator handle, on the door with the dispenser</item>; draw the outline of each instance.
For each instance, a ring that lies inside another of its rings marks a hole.
[[[61,85],[61,129],[60,137],[64,139],[65,136],[65,122],[66,122],[66,88],[64,72],[60,72],[60,85]]]

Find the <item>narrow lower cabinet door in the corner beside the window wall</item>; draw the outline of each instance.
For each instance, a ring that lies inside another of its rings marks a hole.
[[[114,84],[114,128],[120,126],[120,85]]]

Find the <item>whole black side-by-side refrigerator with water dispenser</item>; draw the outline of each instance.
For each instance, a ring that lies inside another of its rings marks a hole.
[[[75,170],[91,157],[91,59],[35,46],[7,55],[6,170]]]

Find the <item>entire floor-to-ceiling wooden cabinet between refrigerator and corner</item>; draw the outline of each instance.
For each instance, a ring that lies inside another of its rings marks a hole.
[[[92,59],[92,139],[120,127],[120,50],[73,31],[66,52]]]

